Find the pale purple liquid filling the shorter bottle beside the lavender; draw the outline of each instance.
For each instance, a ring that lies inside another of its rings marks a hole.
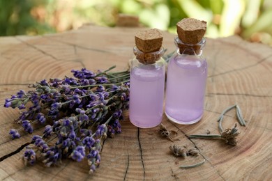
[[[151,65],[140,64],[131,69],[129,117],[133,125],[148,128],[161,123],[164,87],[163,59]]]

